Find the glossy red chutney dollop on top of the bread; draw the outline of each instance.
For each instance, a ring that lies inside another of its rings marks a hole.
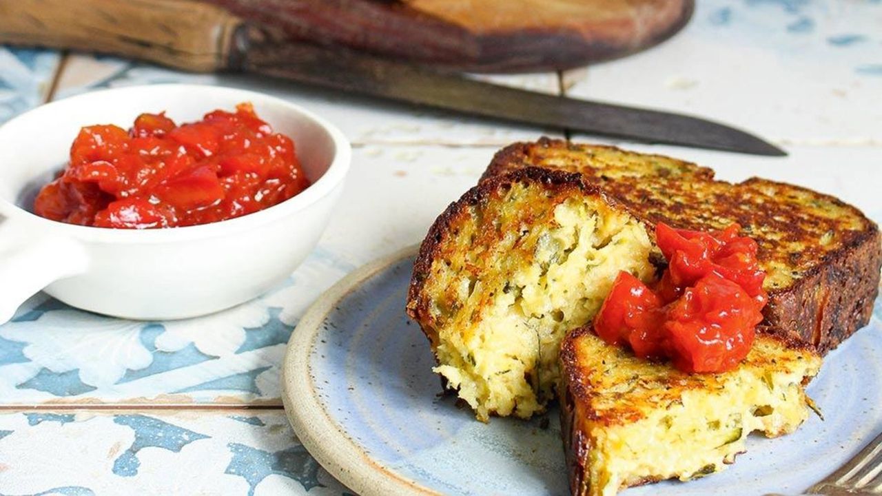
[[[656,242],[668,268],[654,288],[619,273],[594,318],[594,331],[641,358],[669,357],[684,372],[724,372],[751,349],[768,297],[757,243],[737,235],[672,229],[659,223]]]

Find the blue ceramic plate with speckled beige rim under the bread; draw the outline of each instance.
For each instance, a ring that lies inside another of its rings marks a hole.
[[[350,274],[318,299],[288,342],[283,400],[318,462],[364,496],[567,494],[557,409],[530,421],[475,421],[440,395],[434,359],[404,313],[415,248]],[[719,474],[624,496],[798,493],[882,431],[882,304],[871,325],[826,357],[794,434],[753,436]]]

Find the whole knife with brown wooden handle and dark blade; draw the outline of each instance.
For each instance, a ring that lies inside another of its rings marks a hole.
[[[193,0],[0,0],[0,42],[111,53],[184,71],[244,71],[521,124],[744,154],[786,155],[694,116],[497,86],[279,33]]]

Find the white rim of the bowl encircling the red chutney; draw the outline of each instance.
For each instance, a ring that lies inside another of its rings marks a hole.
[[[96,228],[93,226],[81,226],[66,222],[53,221],[41,217],[40,215],[33,214],[25,208],[15,205],[8,199],[0,198],[0,218],[5,217],[6,219],[5,221],[0,222],[0,225],[4,222],[10,221],[28,222],[31,229],[41,229],[41,231],[46,234],[52,233],[61,236],[74,237],[78,240],[92,243],[156,244],[188,239],[228,236],[243,230],[254,229],[303,211],[317,203],[320,199],[331,194],[337,186],[344,181],[348,174],[348,169],[352,160],[352,147],[346,136],[337,126],[326,121],[325,118],[314,114],[310,110],[304,109],[302,106],[278,96],[229,86],[171,83],[122,86],[91,91],[85,94],[77,94],[56,101],[50,101],[49,103],[28,110],[19,116],[13,117],[6,123],[0,125],[0,136],[3,135],[7,126],[21,118],[34,118],[34,115],[41,116],[41,114],[45,114],[47,117],[51,116],[55,111],[64,111],[64,105],[70,104],[71,101],[101,99],[102,96],[107,94],[132,93],[132,96],[134,97],[142,92],[163,92],[172,90],[194,91],[200,94],[212,92],[215,94],[228,94],[231,96],[235,94],[239,95],[236,100],[254,101],[258,105],[264,103],[276,105],[286,111],[293,112],[305,120],[318,124],[318,127],[327,133],[333,143],[332,161],[321,177],[319,177],[316,182],[310,184],[309,187],[303,190],[303,192],[299,192],[295,196],[286,199],[279,204],[273,205],[273,207],[267,207],[251,214],[219,222],[163,229]],[[133,100],[136,100],[136,98],[133,98]],[[206,112],[211,110],[212,109],[206,109]],[[272,125],[272,123],[270,124]],[[83,125],[88,124],[86,123]],[[304,146],[299,143],[295,145],[298,148]]]

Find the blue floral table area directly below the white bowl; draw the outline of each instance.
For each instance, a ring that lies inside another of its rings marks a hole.
[[[104,317],[38,295],[0,326],[0,395],[6,404],[278,404],[279,362],[296,320],[349,268],[318,251],[265,297],[168,322]]]

